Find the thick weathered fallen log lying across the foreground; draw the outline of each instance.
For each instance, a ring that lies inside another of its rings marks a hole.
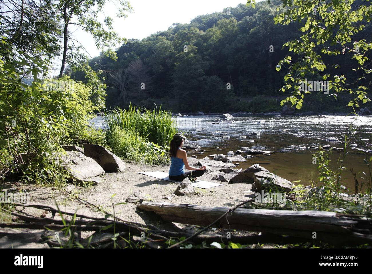
[[[166,202],[142,202],[138,208],[153,211],[165,221],[199,226],[208,226],[229,210],[228,207],[202,207]],[[214,227],[289,235],[308,241],[321,240],[333,245],[355,246],[372,243],[371,219],[328,211],[237,208],[214,224]]]

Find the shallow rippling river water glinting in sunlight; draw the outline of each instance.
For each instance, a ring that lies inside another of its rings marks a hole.
[[[219,115],[211,115],[177,117],[175,121],[179,130],[185,132],[190,141],[206,150],[204,154],[194,153],[198,158],[211,154],[226,154],[231,150],[234,152],[237,149],[244,150],[242,147],[272,151],[270,155],[253,155],[246,162],[240,162],[237,168],[245,169],[259,163],[287,180],[292,182],[301,180],[299,183],[303,185],[309,185],[311,181],[317,182],[319,176],[317,164],[313,164],[312,155],[317,149],[299,149],[294,146],[318,147],[330,144],[332,147],[343,148],[342,140],[346,135],[350,138],[353,148],[372,148],[372,116],[245,116],[235,117],[235,123],[231,123],[221,122]],[[93,119],[92,124],[102,127],[102,118]],[[252,132],[260,134],[250,135]],[[240,138],[242,135],[247,138]],[[230,138],[221,138],[222,136],[230,136]],[[330,137],[340,141],[325,141]],[[341,176],[342,184],[351,191],[354,190],[355,181],[350,169],[357,173],[358,182],[363,182],[362,177],[366,177],[363,172],[369,173],[363,158],[366,158],[365,155],[368,158],[372,155],[357,149],[347,149],[344,166],[348,170],[345,170]],[[333,151],[330,155],[333,170],[339,166],[337,160],[342,153],[342,151]]]

